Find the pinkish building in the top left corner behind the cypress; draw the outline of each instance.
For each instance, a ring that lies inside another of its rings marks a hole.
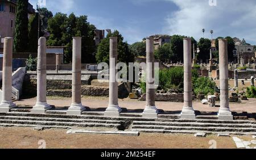
[[[14,37],[16,0],[0,0],[0,52],[3,52],[3,38]],[[28,17],[34,14],[33,6],[28,3]]]

